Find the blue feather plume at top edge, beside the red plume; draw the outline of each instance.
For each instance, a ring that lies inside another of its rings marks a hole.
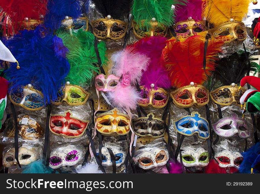
[[[77,19],[81,12],[82,3],[79,0],[53,0],[49,1],[45,15],[45,25],[52,30],[58,29],[65,16]]]

